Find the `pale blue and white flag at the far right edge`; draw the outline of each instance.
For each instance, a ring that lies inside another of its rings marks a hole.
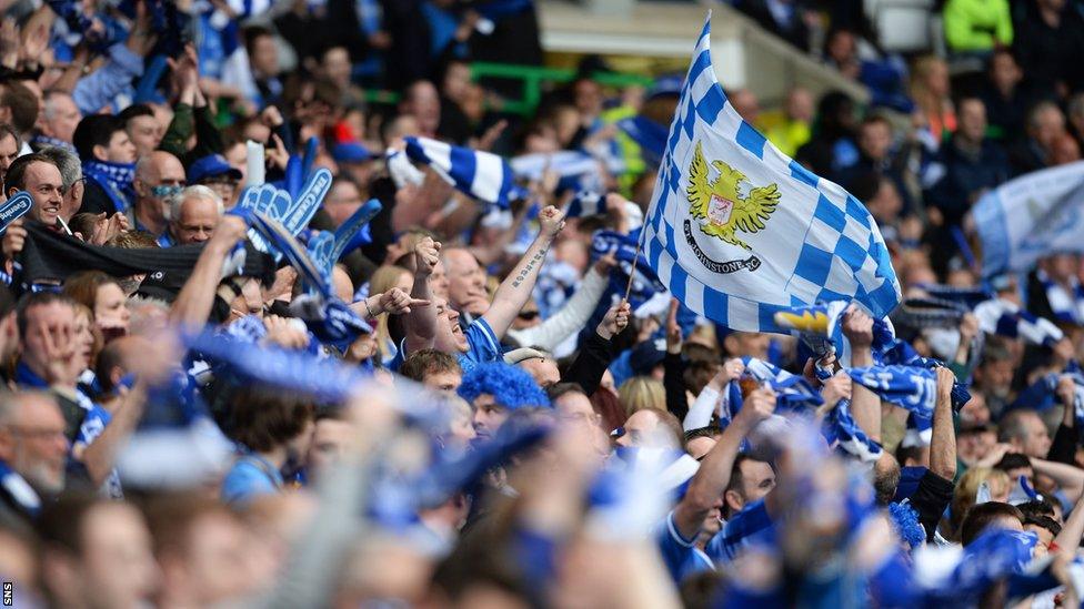
[[[1057,252],[1084,252],[1082,197],[1084,161],[1028,173],[986,193],[972,210],[983,276],[1031,271]]]

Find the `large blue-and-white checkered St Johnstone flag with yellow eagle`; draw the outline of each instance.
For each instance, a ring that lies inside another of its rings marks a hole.
[[[781,307],[853,301],[876,318],[900,284],[870,212],[743,121],[715,80],[704,24],[644,227],[646,260],[685,306],[786,333]]]

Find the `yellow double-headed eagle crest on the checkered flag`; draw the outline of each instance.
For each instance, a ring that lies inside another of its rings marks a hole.
[[[707,161],[700,142],[696,142],[693,162],[689,166],[689,187],[685,191],[689,195],[689,213],[705,221],[700,225],[704,234],[751,250],[734,233],[742,231],[752,234],[764,230],[764,223],[779,205],[779,185],[756,186],[746,196],[742,196],[737,189],[743,182],[747,182],[745,174],[722,161],[712,161],[711,165],[719,172],[719,176],[709,183]]]

